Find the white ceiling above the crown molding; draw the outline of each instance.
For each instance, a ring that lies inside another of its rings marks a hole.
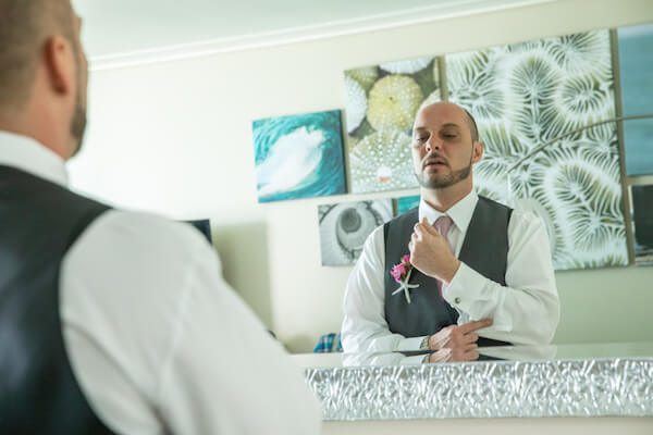
[[[95,69],[367,32],[557,0],[73,0]]]

